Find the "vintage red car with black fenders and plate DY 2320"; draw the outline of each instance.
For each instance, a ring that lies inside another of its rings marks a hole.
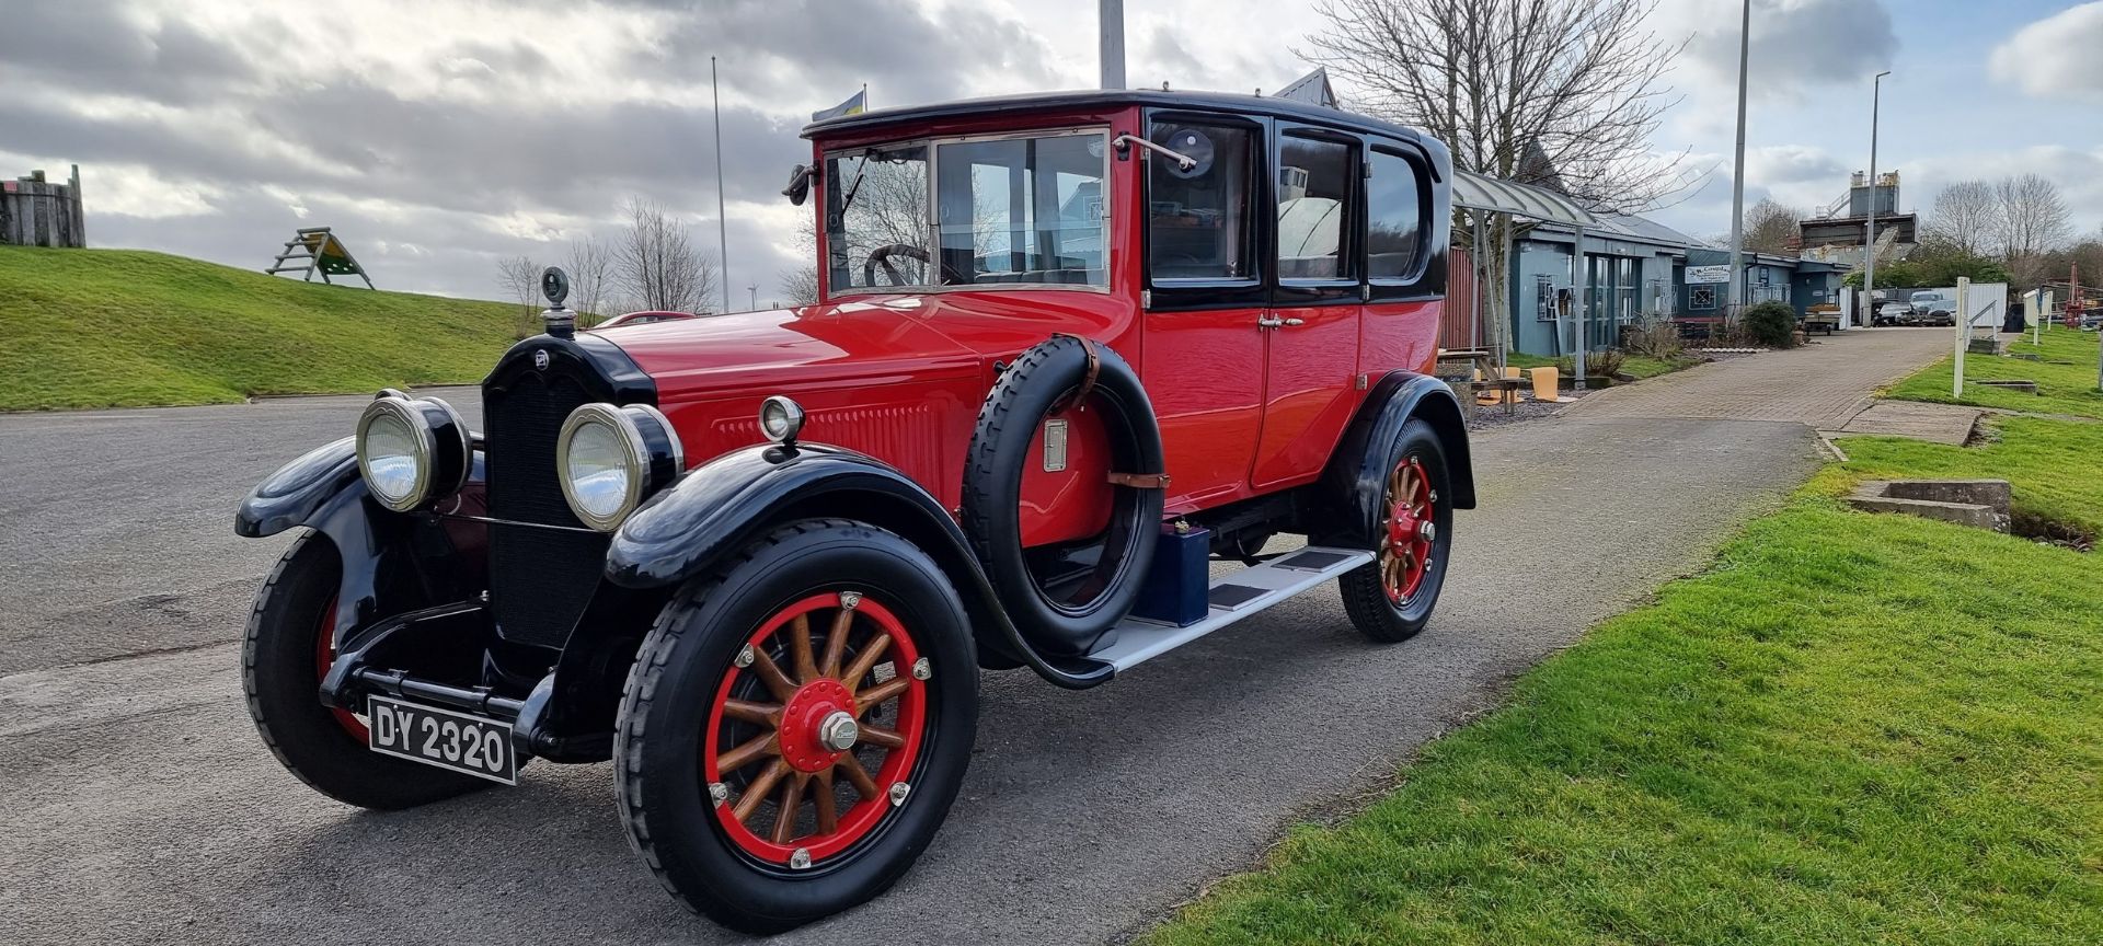
[[[486,431],[383,391],[242,505],[301,528],[244,652],[299,778],[391,809],[612,759],[673,896],[774,931],[927,847],[980,669],[1091,687],[1331,578],[1426,624],[1474,505],[1445,145],[1146,90],[803,135],[816,305],[578,334],[549,271]]]

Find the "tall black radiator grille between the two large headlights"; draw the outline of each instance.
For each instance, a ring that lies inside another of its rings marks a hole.
[[[595,402],[564,370],[524,372],[484,391],[490,517],[543,526],[585,523],[555,479],[555,435],[572,410]],[[610,538],[599,532],[490,526],[490,612],[505,639],[562,647],[591,603]]]

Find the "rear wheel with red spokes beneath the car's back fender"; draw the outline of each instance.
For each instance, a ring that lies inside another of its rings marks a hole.
[[[1338,587],[1352,626],[1392,643],[1424,631],[1438,605],[1453,549],[1453,490],[1438,433],[1422,418],[1403,425],[1388,456],[1375,559]]]

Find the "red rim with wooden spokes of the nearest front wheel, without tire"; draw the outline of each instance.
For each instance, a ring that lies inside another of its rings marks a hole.
[[[702,738],[705,790],[730,841],[808,868],[869,837],[911,795],[925,675],[898,616],[856,593],[812,595],[759,624],[715,687]],[[829,742],[841,713],[854,719],[850,748],[837,732]]]

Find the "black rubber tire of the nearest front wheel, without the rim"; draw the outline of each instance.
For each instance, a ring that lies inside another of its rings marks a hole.
[[[906,803],[856,847],[784,872],[721,835],[698,753],[715,687],[751,631],[831,589],[875,597],[913,631],[934,666],[930,725]],[[778,933],[866,902],[913,866],[957,799],[976,729],[972,631],[942,568],[875,526],[805,519],[690,580],[665,605],[620,700],[614,784],[629,843],[673,898],[730,929]]]

